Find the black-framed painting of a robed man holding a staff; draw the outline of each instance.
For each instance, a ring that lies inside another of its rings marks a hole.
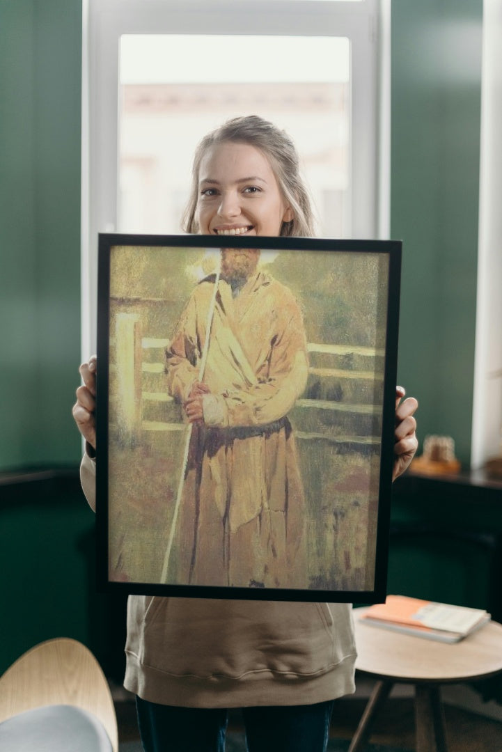
[[[98,586],[379,602],[401,243],[100,235]]]

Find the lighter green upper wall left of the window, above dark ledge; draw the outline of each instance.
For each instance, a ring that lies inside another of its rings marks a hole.
[[[81,0],[0,0],[0,470],[75,463]]]

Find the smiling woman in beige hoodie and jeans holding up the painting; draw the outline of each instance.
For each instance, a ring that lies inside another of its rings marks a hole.
[[[307,191],[289,137],[259,117],[225,123],[195,154],[187,232],[313,235]],[[243,275],[245,279],[246,275]],[[235,282],[234,295],[239,290]],[[74,418],[86,438],[82,483],[94,499],[95,358],[80,366]],[[416,452],[413,398],[396,393],[397,478]],[[210,420],[193,381],[184,408]],[[216,406],[216,409],[218,406]],[[225,410],[225,405],[219,405]],[[125,686],[138,697],[144,749],[223,750],[227,708],[243,708],[250,752],[322,752],[334,699],[354,691],[348,604],[130,596]]]

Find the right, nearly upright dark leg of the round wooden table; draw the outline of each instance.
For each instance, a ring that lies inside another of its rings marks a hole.
[[[415,695],[417,752],[448,752],[439,685],[416,684]]]

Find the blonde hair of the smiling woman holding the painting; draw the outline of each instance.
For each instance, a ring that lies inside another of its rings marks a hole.
[[[207,150],[215,144],[234,141],[250,144],[262,151],[271,163],[280,192],[292,208],[293,219],[283,222],[280,235],[286,237],[312,237],[314,235],[313,211],[301,175],[298,153],[286,131],[280,130],[268,120],[258,115],[235,117],[208,133],[195,150],[192,166],[192,189],[188,205],[183,215],[183,230],[197,233],[195,219],[198,203],[198,179],[201,161]]]

